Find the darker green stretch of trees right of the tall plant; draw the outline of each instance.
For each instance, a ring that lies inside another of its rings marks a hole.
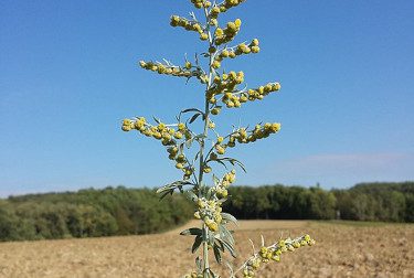
[[[319,186],[234,186],[226,210],[238,218],[414,222],[414,182]]]

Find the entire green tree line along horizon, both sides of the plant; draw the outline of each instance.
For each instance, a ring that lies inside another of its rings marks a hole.
[[[319,186],[231,186],[225,211],[241,220],[352,220],[414,222],[414,182]],[[151,189],[124,186],[29,194],[0,200],[0,240],[159,233],[193,215],[173,194],[159,202]]]

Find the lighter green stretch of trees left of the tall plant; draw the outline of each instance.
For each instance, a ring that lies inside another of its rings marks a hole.
[[[183,196],[166,199],[124,186],[10,196],[0,200],[0,240],[159,233],[192,216]]]

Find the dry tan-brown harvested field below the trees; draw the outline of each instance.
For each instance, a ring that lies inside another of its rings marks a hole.
[[[176,232],[2,243],[0,277],[180,277],[193,266],[192,238]],[[414,277],[414,225],[247,221],[235,233],[237,250],[247,255],[247,238],[258,243],[263,234],[270,240],[280,232],[309,233],[317,245],[283,256],[258,277]]]

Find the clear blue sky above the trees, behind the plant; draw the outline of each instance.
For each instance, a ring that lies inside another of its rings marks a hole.
[[[169,26],[190,1],[0,2],[0,196],[180,178],[158,141],[120,131],[125,117],[173,121],[202,106],[195,81],[159,76],[139,60],[183,62],[205,51]],[[232,152],[237,184],[351,186],[414,180],[414,2],[247,0],[235,42],[261,53],[224,63],[279,94],[225,110],[217,126],[280,121],[268,140]]]

